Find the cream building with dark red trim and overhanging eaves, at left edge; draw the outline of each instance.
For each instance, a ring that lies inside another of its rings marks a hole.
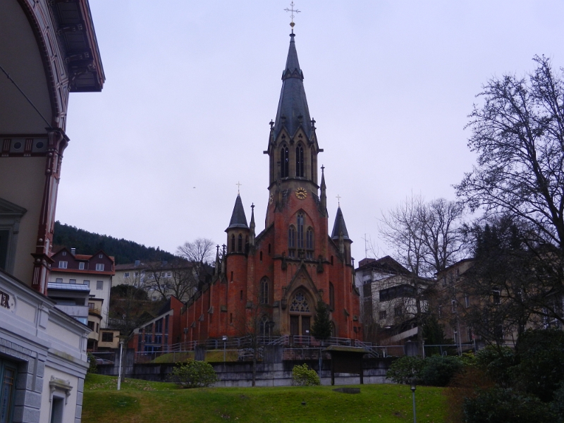
[[[47,294],[69,94],[104,71],[87,0],[4,0],[0,28],[0,420],[78,423],[85,293]]]

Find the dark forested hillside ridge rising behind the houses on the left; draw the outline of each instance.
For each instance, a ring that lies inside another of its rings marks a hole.
[[[133,241],[99,235],[59,221],[55,222],[53,243],[56,247],[76,248],[77,254],[93,255],[104,250],[107,255],[115,257],[116,264],[133,263],[135,260],[172,260],[175,257],[159,247],[145,247]]]

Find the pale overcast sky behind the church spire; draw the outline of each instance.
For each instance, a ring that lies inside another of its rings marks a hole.
[[[455,199],[465,130],[489,78],[564,66],[563,1],[296,0],[295,41],[329,227],[341,208],[364,257],[411,192]],[[226,242],[238,181],[257,233],[286,64],[287,1],[90,0],[106,83],[73,93],[56,219],[175,252]]]

